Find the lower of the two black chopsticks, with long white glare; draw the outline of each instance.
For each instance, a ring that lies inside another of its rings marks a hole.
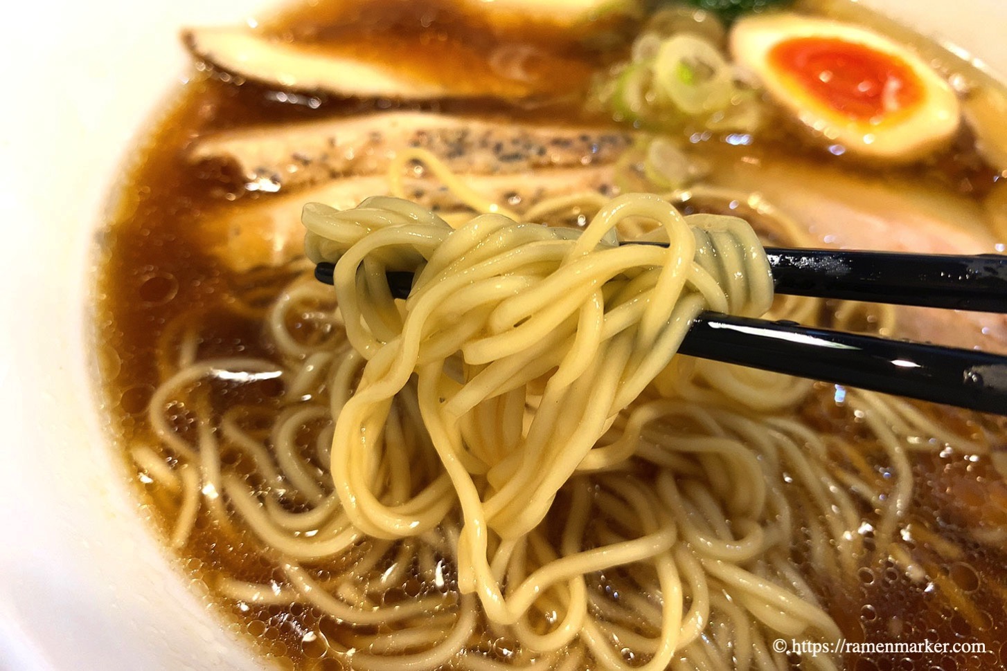
[[[315,277],[332,284],[332,264],[318,264]],[[387,277],[393,296],[409,296],[413,282],[411,273],[388,273]],[[715,312],[704,312],[696,318],[679,351],[700,358],[1007,415],[1007,356],[987,352]]]

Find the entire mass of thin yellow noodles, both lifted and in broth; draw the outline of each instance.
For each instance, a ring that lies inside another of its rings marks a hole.
[[[676,204],[740,203],[763,235],[809,244],[796,222],[714,187],[520,213],[415,148],[392,162],[393,194],[413,164],[469,209],[305,206],[306,255],[335,263],[334,291],[300,261],[268,305],[251,292],[229,308],[265,323],[275,356],[200,358],[191,315],[163,332],[176,356],[158,360],[147,406],[160,445],[132,455],[177,511],[170,542],[206,514],[272,571],[213,590],[315,609],[339,627],[325,654],[361,670],[781,669],[774,639],[842,637],[799,561],[839,584],[885,557],[914,565],[897,534],[910,452],[986,446],[847,389],[851,445],[798,415],[811,382],[675,356],[704,310],[815,322],[822,309],[773,300],[744,220]],[[538,223],[571,214],[590,222]],[[414,274],[408,299],[392,271]],[[866,315],[844,304],[835,325]],[[270,382],[268,403],[222,407],[207,390]]]

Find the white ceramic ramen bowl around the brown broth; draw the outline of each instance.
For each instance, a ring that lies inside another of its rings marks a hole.
[[[864,1],[1007,72],[1003,0]],[[178,29],[261,8],[35,1],[0,40],[0,669],[263,666],[142,526],[86,337],[93,233],[185,71]]]

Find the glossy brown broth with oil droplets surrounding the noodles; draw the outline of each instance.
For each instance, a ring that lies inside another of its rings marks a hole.
[[[614,35],[625,34],[631,26],[613,25]],[[478,60],[485,69],[467,75],[487,76],[488,55],[507,48],[535,49],[539,66],[534,69],[539,86],[554,86],[555,100],[509,104],[502,102],[445,101],[413,109],[429,109],[471,115],[507,115],[530,121],[589,119],[582,110],[582,96],[589,75],[605,63],[624,54],[624,45],[614,51],[597,51],[577,34],[553,25],[514,27],[490,26],[471,12],[465,13],[447,0],[374,0],[366,3],[326,0],[320,4],[289,10],[263,28],[268,34],[292,39],[318,48],[362,49],[384,54],[385,58],[417,73],[443,74],[443,58],[463,54],[466,62]],[[386,46],[389,45],[389,46]],[[436,47],[431,47],[436,44]],[[460,57],[460,56],[459,56]],[[473,60],[474,59],[474,60]],[[572,63],[572,65],[571,65]],[[352,115],[392,104],[343,101],[318,97],[312,106],[284,103],[262,87],[246,83],[235,87],[209,71],[197,71],[178,95],[173,109],[137,148],[136,159],[119,194],[115,216],[103,232],[103,266],[99,279],[96,342],[107,394],[107,411],[116,427],[116,442],[142,501],[142,513],[166,537],[174,508],[154,495],[144,484],[128,449],[138,444],[157,443],[144,410],[158,382],[157,361],[170,355],[164,351],[165,329],[181,315],[197,315],[202,321],[200,358],[211,356],[270,357],[269,342],[261,321],[243,318],[229,310],[236,296],[252,288],[264,297],[275,296],[290,279],[288,269],[261,270],[236,274],[223,267],[199,247],[195,231],[209,213],[230,201],[255,200],[268,195],[245,193],[226,175],[211,167],[193,167],[186,162],[188,144],[202,134],[223,129],[262,124],[321,119]],[[595,120],[597,121],[597,120]],[[774,125],[770,125],[774,126]],[[718,142],[713,138],[710,142]],[[820,149],[802,146],[785,129],[769,130],[755,140],[754,150],[784,155],[814,156],[819,160],[852,165],[852,159],[832,157]],[[738,155],[753,151],[737,148]],[[949,152],[914,167],[866,168],[886,175],[911,176],[922,183],[952,187],[981,196],[992,183],[990,169],[971,150],[966,136]],[[268,413],[277,407],[275,385],[259,383],[241,388],[212,391],[214,405],[242,402]],[[841,417],[833,401],[834,388],[819,385],[803,413],[815,429],[845,438],[857,438],[857,428]],[[925,407],[925,411],[965,436],[999,436],[1004,445],[1007,427],[988,417]],[[194,431],[193,418],[184,407],[175,415],[181,432]],[[912,524],[925,530],[912,542],[920,556],[928,543],[949,542],[960,558],[948,563],[931,553],[938,574],[957,584],[968,604],[949,599],[940,583],[916,583],[894,565],[862,569],[844,583],[823,581],[815,567],[795,560],[802,572],[822,595],[828,610],[850,641],[893,640],[942,642],[981,641],[985,655],[958,656],[878,656],[848,657],[848,668],[877,669],[937,668],[948,671],[1000,668],[1002,642],[1007,641],[1007,572],[1004,552],[971,540],[966,527],[980,524],[995,527],[1007,524],[1007,485],[987,458],[933,454],[914,460],[915,500]],[[562,500],[557,507],[562,507]],[[559,511],[562,514],[562,511]],[[213,527],[200,513],[193,537],[178,554],[178,563],[194,580],[212,585],[226,574],[247,580],[281,581],[268,556],[258,551],[241,533],[227,534]],[[415,579],[387,595],[387,601],[408,599],[425,590]],[[338,669],[339,663],[324,656],[324,638],[338,640],[339,627],[322,618],[314,609],[261,607],[215,602],[228,628],[247,639],[279,666],[296,669]],[[971,610],[970,610],[971,609]],[[320,632],[323,638],[305,636]]]

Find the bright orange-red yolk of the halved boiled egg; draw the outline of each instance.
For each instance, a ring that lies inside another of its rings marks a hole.
[[[780,42],[769,62],[813,98],[857,121],[879,121],[923,98],[922,83],[902,60],[835,37]]]

